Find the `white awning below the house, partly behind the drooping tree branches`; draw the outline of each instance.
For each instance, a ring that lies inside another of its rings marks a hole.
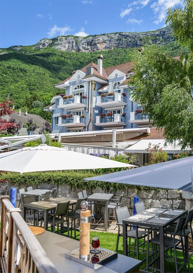
[[[165,139],[143,139],[139,140],[137,143],[133,144],[132,146],[125,149],[126,153],[148,153],[146,149],[148,148],[148,144],[152,143],[152,147],[155,145],[158,145],[162,148],[163,151],[166,151],[167,153],[180,153],[182,152],[180,146],[172,146],[170,144],[167,144],[167,146],[164,147]]]

